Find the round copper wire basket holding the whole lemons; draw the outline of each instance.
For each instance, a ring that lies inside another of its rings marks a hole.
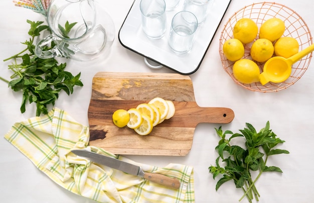
[[[223,54],[222,47],[226,40],[233,38],[233,27],[236,22],[242,18],[252,19],[260,28],[263,22],[270,18],[279,18],[285,24],[285,31],[283,37],[295,38],[299,43],[299,51],[312,44],[312,37],[310,31],[303,21],[303,19],[295,13],[292,9],[285,7],[284,5],[277,3],[256,3],[250,6],[246,6],[243,9],[237,11],[226,23],[220,37],[219,53],[225,71],[231,76],[231,78],[239,85],[252,90],[260,92],[274,92],[281,89],[285,89],[288,86],[294,84],[305,72],[312,57],[312,53],[306,55],[301,60],[292,65],[292,71],[290,77],[284,82],[273,83],[268,82],[262,85],[259,82],[251,84],[243,84],[239,82],[233,75],[232,67],[234,62],[229,61]],[[258,37],[258,36],[257,36]],[[256,38],[257,39],[257,38]],[[256,40],[255,39],[255,40]],[[254,40],[254,41],[255,41]],[[246,44],[245,54],[243,58],[251,59],[250,49],[252,43]],[[256,62],[256,61],[255,61]],[[260,68],[260,72],[263,70],[264,63],[256,62]]]

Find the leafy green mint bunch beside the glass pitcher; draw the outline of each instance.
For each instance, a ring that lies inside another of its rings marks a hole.
[[[9,65],[9,69],[14,72],[11,76],[12,80],[2,77],[0,79],[7,82],[14,91],[23,92],[21,113],[26,111],[26,103],[29,101],[29,103],[36,103],[36,116],[40,116],[48,114],[47,106],[55,105],[61,90],[70,95],[75,85],[83,86],[83,83],[80,80],[81,73],[73,76],[72,73],[64,70],[66,63],[59,64],[55,58],[42,59],[35,55],[35,40],[44,30],[50,31],[50,29],[47,25],[42,25],[41,21],[27,20],[27,23],[31,25],[28,32],[31,38],[22,43],[27,48],[4,60],[14,60]],[[67,23],[64,30],[69,32],[72,27],[73,24]],[[47,45],[44,50],[52,49],[55,44],[51,43],[49,46]]]

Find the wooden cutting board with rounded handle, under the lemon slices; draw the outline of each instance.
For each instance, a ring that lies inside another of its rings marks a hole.
[[[154,97],[172,100],[174,117],[155,126],[147,136],[112,122],[117,109],[136,108]],[[192,80],[177,73],[98,72],[93,77],[88,108],[89,145],[114,154],[184,156],[192,147],[199,123],[230,123],[234,112],[222,107],[199,107]]]

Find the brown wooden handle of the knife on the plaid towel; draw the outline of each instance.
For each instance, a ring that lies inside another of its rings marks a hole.
[[[148,172],[145,172],[144,173],[144,178],[149,180],[149,181],[152,181],[152,182],[155,182],[155,183],[159,183],[159,184],[162,184],[162,185],[165,185],[165,186],[169,186],[169,187],[172,187],[172,188],[175,188],[175,189],[179,189],[179,187],[180,187],[179,179],[171,178],[171,177],[168,177],[168,176],[160,174],[160,173],[148,173]]]

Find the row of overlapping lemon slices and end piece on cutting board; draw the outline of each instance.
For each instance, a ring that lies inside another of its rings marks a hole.
[[[119,128],[127,126],[139,135],[148,135],[154,126],[172,118],[175,112],[175,105],[171,100],[155,97],[128,111],[116,110],[112,121]]]

